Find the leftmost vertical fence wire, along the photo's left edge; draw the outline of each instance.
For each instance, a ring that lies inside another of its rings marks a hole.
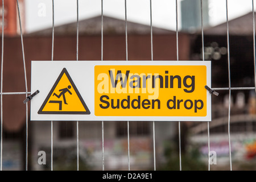
[[[5,19],[5,4],[2,0],[2,57],[1,57],[1,154],[0,154],[0,171],[3,164],[3,38],[4,38],[4,19]]]

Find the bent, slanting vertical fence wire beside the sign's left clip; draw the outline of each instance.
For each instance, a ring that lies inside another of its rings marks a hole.
[[[23,35],[22,35],[22,22],[20,18],[20,9],[19,9],[19,1],[17,2],[17,9],[19,15],[19,29],[20,29],[20,39],[22,43],[22,58],[23,58],[23,68],[24,68],[24,80],[25,80],[25,88],[26,88],[26,97],[27,97],[27,73],[26,73],[26,63],[25,63],[25,53],[24,53],[24,44],[23,44]],[[28,169],[28,105],[26,103],[26,171]]]

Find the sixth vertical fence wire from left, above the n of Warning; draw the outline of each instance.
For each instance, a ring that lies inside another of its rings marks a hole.
[[[125,50],[128,61],[128,35],[127,35],[127,3],[125,0]],[[130,171],[130,123],[127,121],[127,145],[128,145],[128,170]]]

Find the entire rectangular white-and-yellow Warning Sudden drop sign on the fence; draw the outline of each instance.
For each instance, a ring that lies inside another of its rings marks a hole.
[[[31,120],[211,121],[210,69],[210,61],[32,61],[31,93],[40,93]]]

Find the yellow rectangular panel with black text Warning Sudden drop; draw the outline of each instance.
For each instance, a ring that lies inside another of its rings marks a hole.
[[[96,116],[207,115],[205,65],[96,65]]]

